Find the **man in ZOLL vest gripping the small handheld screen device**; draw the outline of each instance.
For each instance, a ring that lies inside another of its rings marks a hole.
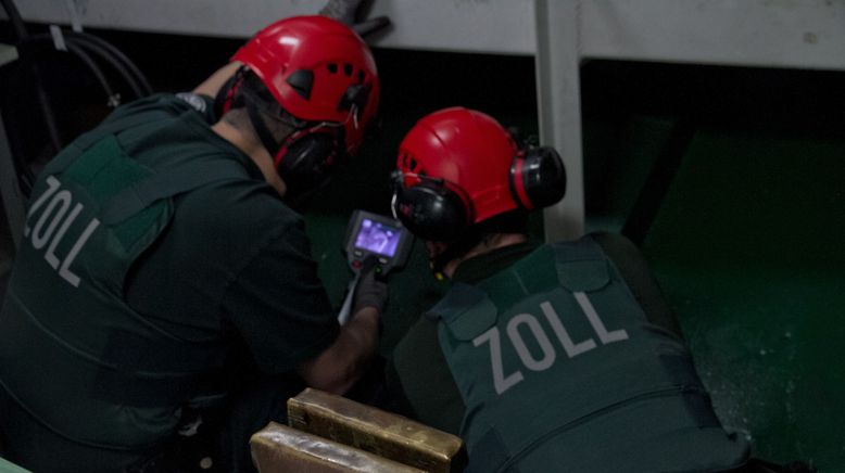
[[[194,93],[122,106],[50,162],[0,312],[8,458],[245,471],[288,396],[353,385],[387,286],[365,278],[339,327],[291,206],[355,152],[378,97],[361,37],[292,17]],[[219,418],[214,455],[180,450]]]

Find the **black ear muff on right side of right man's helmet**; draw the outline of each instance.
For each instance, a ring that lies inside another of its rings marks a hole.
[[[526,209],[543,208],[566,194],[566,168],[553,148],[529,149],[510,165],[510,193]]]

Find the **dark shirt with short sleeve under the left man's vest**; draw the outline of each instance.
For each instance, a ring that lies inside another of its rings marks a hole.
[[[167,95],[159,100],[181,105]],[[252,179],[176,199],[171,227],[128,283],[129,305],[184,336],[242,341],[266,373],[289,371],[319,354],[337,336],[338,323],[302,217],[201,115],[166,132],[215,143]],[[159,139],[121,137],[129,155],[148,166],[166,164],[155,151]]]

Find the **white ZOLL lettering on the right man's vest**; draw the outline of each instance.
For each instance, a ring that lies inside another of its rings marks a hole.
[[[602,318],[596,312],[595,307],[590,302],[587,294],[582,292],[573,293],[578,305],[583,310],[583,315],[590,322],[593,331],[595,331],[598,340],[603,345],[607,345],[614,342],[621,342],[628,340],[628,332],[625,330],[614,330],[608,332]],[[593,338],[587,338],[583,342],[573,343],[569,336],[569,332],[564,328],[564,323],[560,321],[560,316],[555,311],[552,303],[548,301],[540,304],[540,309],[545,316],[545,320],[552,325],[552,331],[555,333],[560,345],[564,347],[564,351],[569,358],[575,358],[585,351],[596,348],[596,343]],[[519,327],[526,325],[537,341],[537,345],[540,346],[540,350],[543,353],[542,358],[537,359],[528,349],[522,334],[519,332]],[[510,340],[510,344],[519,357],[522,365],[531,371],[545,371],[550,369],[557,357],[555,348],[548,336],[545,334],[542,325],[538,319],[530,314],[519,314],[512,318],[507,322],[507,337]],[[493,374],[493,387],[496,394],[501,395],[505,391],[514,387],[516,384],[524,380],[522,372],[519,370],[505,376],[504,360],[502,358],[502,343],[500,340],[499,328],[493,327],[481,335],[472,340],[472,345],[479,347],[485,342],[490,342],[490,363]]]

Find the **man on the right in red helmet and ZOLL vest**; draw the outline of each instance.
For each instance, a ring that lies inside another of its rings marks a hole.
[[[396,216],[451,286],[398,345],[389,386],[400,412],[464,438],[468,471],[746,462],[633,244],[528,238],[528,213],[564,195],[554,150],[520,149],[490,116],[447,108],[406,135],[395,179]]]

